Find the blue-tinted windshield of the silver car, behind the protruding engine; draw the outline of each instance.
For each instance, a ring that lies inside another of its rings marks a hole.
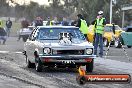
[[[84,35],[80,32],[79,28],[40,28],[38,39],[39,40],[58,40],[59,33],[68,32],[72,34],[72,38],[85,40]]]

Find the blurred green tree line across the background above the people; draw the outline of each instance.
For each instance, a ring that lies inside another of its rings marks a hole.
[[[9,1],[9,0],[8,0]],[[0,0],[0,16],[6,17],[25,17],[32,21],[36,16],[40,16],[43,19],[47,17],[58,17],[60,20],[62,17],[73,17],[77,13],[81,13],[88,24],[91,23],[97,16],[98,11],[104,11],[104,17],[109,23],[110,14],[110,0],[48,0],[49,6],[39,5],[36,2],[31,1],[30,4],[20,5],[10,0],[15,4],[14,7],[10,6],[6,0]],[[61,4],[61,1],[64,4]],[[116,4],[113,3],[113,22],[121,26],[122,11],[121,6],[124,4],[132,3],[132,0],[116,0]],[[125,23],[129,25],[132,20],[132,10],[125,11]]]

